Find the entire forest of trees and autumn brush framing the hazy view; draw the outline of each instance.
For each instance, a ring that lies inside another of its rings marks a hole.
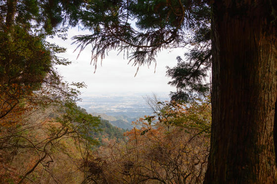
[[[171,101],[128,131],[78,107],[86,85],[47,41],[76,26],[95,70],[187,48]],[[277,184],[276,114],[276,0],[0,0],[1,184]]]

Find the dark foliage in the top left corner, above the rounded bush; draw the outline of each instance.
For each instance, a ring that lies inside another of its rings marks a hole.
[[[0,0],[0,24],[28,31],[53,31],[58,25],[76,26],[83,0]]]

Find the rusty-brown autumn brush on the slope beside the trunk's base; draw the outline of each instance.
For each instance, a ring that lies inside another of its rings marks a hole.
[[[124,141],[105,140],[89,160],[88,182],[100,184],[201,184],[207,168],[211,125],[209,99],[164,103]]]

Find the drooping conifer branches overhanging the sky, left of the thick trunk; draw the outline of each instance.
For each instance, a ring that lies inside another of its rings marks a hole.
[[[190,46],[185,61],[168,68],[170,85],[178,91],[172,99],[187,100],[191,93],[206,94],[203,83],[211,67],[210,7],[205,0],[95,0],[86,2],[80,22],[91,35],[74,37],[80,52],[92,44],[92,61],[118,49],[134,66],[156,62],[166,48]],[[135,23],[135,25],[134,25]]]

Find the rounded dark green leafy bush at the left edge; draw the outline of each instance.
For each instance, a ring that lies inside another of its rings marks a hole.
[[[0,30],[0,84],[40,87],[52,67],[51,51],[40,37],[19,26],[12,33]]]

